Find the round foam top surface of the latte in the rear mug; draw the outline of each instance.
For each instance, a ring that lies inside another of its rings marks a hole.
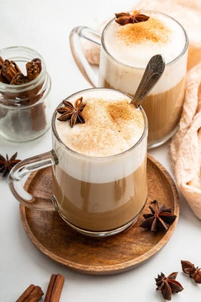
[[[105,33],[107,50],[124,64],[145,67],[157,53],[168,63],[185,46],[185,34],[177,22],[165,15],[145,14],[150,16],[148,21],[124,26],[113,21]]]

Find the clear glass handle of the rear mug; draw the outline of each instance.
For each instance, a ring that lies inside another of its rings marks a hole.
[[[77,67],[83,74],[83,77],[92,87],[97,87],[97,75],[86,60],[80,38],[84,38],[100,46],[101,34],[86,26],[75,27],[70,33],[70,48]]]

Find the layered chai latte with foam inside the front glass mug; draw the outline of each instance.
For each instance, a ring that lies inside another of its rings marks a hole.
[[[55,120],[58,165],[53,194],[61,217],[80,230],[104,232],[133,224],[148,194],[146,118],[131,98],[109,89],[77,93],[84,124]],[[57,117],[60,114],[57,113]]]

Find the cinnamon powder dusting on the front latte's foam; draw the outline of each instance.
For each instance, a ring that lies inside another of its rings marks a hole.
[[[77,124],[68,131],[67,143],[84,155],[110,156],[123,152],[136,142],[133,141],[135,136],[136,140],[141,136],[138,131],[143,132],[144,129],[142,113],[127,100],[109,103],[101,99],[86,101],[82,115],[85,124]],[[117,153],[114,153],[114,146],[118,148]]]

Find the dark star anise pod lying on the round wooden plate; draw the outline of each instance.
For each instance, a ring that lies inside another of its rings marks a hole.
[[[156,203],[156,209],[149,206],[151,213],[144,214],[145,221],[140,224],[141,228],[149,229],[152,232],[158,230],[168,230],[169,225],[174,222],[176,215],[172,213],[171,207],[166,208],[165,205],[159,206],[157,200],[153,200],[151,203]]]

